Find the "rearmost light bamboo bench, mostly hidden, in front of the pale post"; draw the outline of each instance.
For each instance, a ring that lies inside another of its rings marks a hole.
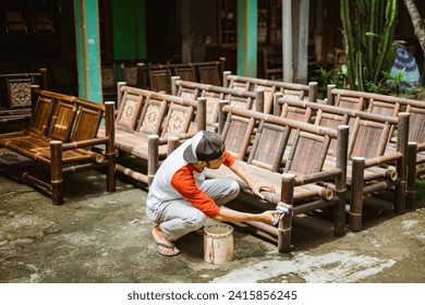
[[[295,99],[317,100],[317,83],[311,82],[308,85],[295,84],[280,81],[263,80],[257,77],[232,75],[230,71],[223,72],[223,87],[239,88],[254,91],[258,88],[264,90],[264,112],[271,113],[274,108],[274,95],[282,93],[286,97]]]

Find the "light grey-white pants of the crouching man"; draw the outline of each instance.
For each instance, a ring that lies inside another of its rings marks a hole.
[[[231,179],[206,180],[201,190],[218,206],[223,206],[234,199],[240,192],[238,182]],[[183,199],[163,203],[158,209],[156,218],[159,228],[169,241],[175,241],[189,232],[202,228],[206,220],[207,216],[203,211]]]

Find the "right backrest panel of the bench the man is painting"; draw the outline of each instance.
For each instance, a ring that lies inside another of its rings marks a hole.
[[[328,135],[298,131],[283,172],[299,175],[320,172],[330,145]]]

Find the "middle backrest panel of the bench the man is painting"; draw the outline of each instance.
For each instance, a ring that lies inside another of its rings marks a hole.
[[[247,163],[277,172],[281,170],[282,157],[291,129],[264,122],[255,133]]]

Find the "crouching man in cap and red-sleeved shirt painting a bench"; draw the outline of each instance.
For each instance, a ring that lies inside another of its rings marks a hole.
[[[234,199],[240,187],[231,179],[205,180],[207,169],[229,167],[263,198],[260,190],[275,192],[272,185],[255,182],[241,162],[226,151],[221,136],[210,131],[198,132],[185,141],[159,167],[149,187],[146,213],[157,223],[153,229],[159,254],[174,256],[180,251],[172,243],[201,229],[207,217],[217,221],[264,221],[272,223],[278,211],[240,212],[223,207]]]

